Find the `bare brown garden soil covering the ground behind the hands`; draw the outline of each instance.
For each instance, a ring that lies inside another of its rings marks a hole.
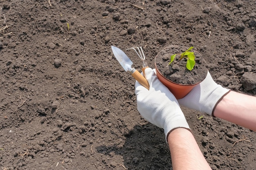
[[[0,168],[172,169],[164,131],[139,115],[135,79],[111,45],[141,46],[152,68],[166,46],[194,46],[218,84],[255,96],[255,9],[253,0],[0,0]],[[213,170],[256,169],[256,132],[182,110]]]

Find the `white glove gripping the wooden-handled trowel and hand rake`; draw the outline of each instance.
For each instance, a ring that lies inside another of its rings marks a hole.
[[[164,129],[166,142],[168,133],[175,128],[189,128],[180,105],[174,95],[162,84],[156,76],[155,69],[146,68],[145,77],[149,90],[135,83],[138,111],[144,119]]]

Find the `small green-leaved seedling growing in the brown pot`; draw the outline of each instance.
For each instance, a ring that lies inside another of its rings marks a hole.
[[[179,54],[180,55],[180,60],[182,60],[182,58],[186,58],[187,62],[186,62],[186,68],[191,71],[194,66],[195,66],[195,55],[194,52],[190,52],[191,49],[193,49],[194,47],[191,46],[189,49],[187,49],[185,52]],[[175,59],[177,54],[171,55],[171,61],[169,62],[168,65],[170,65],[173,60]]]

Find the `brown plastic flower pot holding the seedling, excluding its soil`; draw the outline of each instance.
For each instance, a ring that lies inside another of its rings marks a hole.
[[[168,48],[168,47],[166,47],[166,48]],[[163,73],[161,73],[159,71],[159,69],[157,67],[157,57],[159,57],[158,55],[159,54],[157,54],[157,56],[155,57],[155,70],[157,73],[157,77],[160,80],[160,82],[162,82],[171,91],[171,93],[173,93],[173,95],[176,97],[176,99],[182,99],[183,97],[185,97],[195,86],[197,86],[200,82],[202,82],[207,75],[207,73],[204,73],[205,74],[204,78],[202,78],[200,81],[195,82],[193,84],[175,83],[175,82],[171,81],[170,79],[167,79],[166,76],[164,76]],[[179,56],[177,58],[179,58]]]

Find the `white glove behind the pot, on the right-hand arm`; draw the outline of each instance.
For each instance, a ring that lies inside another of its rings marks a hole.
[[[178,102],[182,106],[208,113],[214,117],[215,107],[229,91],[230,89],[216,84],[208,71],[206,78],[195,86],[189,94],[182,99],[178,99]]]

